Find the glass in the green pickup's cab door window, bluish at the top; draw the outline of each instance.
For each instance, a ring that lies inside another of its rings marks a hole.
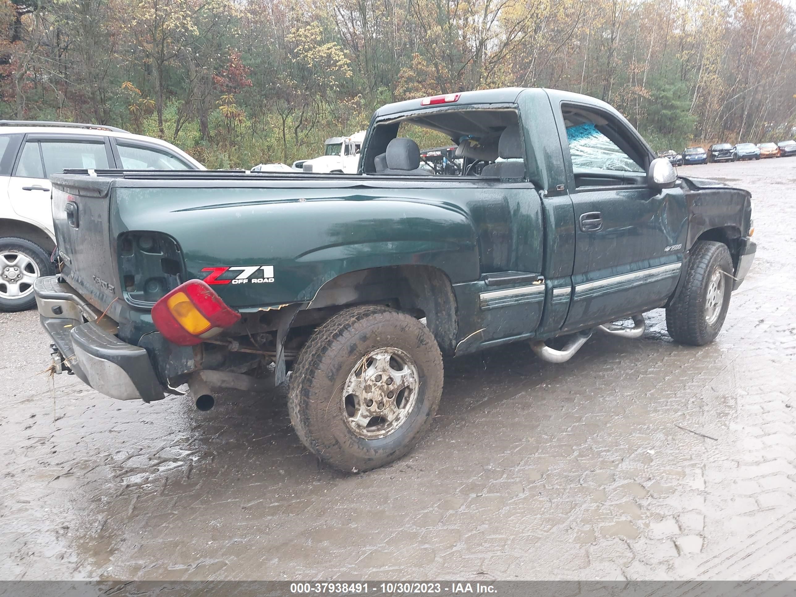
[[[595,123],[567,123],[567,141],[572,170],[613,170],[644,172],[644,168],[615,142],[600,132]]]

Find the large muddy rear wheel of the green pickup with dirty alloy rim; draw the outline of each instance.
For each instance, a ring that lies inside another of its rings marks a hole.
[[[302,443],[322,462],[356,473],[412,450],[442,392],[442,354],[428,328],[384,306],[356,306],[304,345],[287,404]]]

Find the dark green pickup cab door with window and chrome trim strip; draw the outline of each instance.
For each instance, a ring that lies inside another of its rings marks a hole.
[[[615,115],[568,103],[561,115],[576,225],[574,292],[564,329],[661,306],[682,267],[685,193],[648,183],[651,152]]]

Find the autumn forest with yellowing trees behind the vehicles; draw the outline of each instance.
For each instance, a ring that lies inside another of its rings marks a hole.
[[[656,150],[796,124],[778,0],[0,0],[0,32],[0,117],[115,125],[210,168],[290,164],[384,103],[513,85],[612,103]]]

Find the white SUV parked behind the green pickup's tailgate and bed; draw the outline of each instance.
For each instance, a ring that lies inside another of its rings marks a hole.
[[[115,127],[0,120],[0,311],[35,306],[33,280],[55,273],[47,177],[68,168],[205,170],[170,143]]]

